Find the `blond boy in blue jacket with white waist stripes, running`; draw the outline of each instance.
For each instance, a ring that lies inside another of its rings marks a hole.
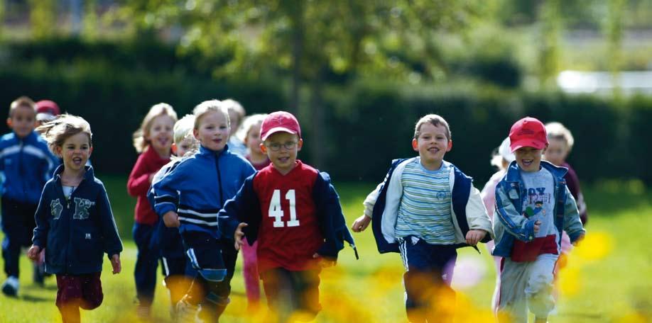
[[[237,251],[217,229],[217,212],[232,198],[254,167],[228,147],[229,113],[217,100],[193,110],[199,152],[176,164],[153,185],[156,213],[168,227],[179,227],[188,259],[198,274],[177,304],[182,321],[199,312],[217,322],[229,304]]]

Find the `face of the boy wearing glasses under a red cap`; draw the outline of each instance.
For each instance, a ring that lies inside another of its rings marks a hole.
[[[288,148],[289,147],[289,148]],[[274,168],[281,174],[288,174],[296,165],[297,152],[303,147],[303,140],[290,132],[275,132],[261,144]]]

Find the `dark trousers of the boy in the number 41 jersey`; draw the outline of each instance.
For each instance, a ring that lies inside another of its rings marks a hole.
[[[315,317],[322,309],[319,302],[320,270],[288,271],[273,268],[262,272],[263,288],[269,310],[276,314],[301,311]]]

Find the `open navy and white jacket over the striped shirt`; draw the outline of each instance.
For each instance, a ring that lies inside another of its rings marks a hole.
[[[399,252],[398,240],[394,235],[396,217],[398,216],[398,205],[401,203],[403,191],[391,191],[391,183],[400,183],[404,166],[412,162],[414,158],[396,159],[392,162],[385,180],[374,192],[369,194],[364,204],[365,208],[372,208],[371,229],[374,232],[376,246],[381,254],[386,252]],[[447,163],[447,162],[445,162]],[[481,242],[489,242],[494,232],[491,230],[491,222],[480,198],[479,191],[472,185],[473,179],[462,173],[455,165],[448,163],[452,174],[450,174],[451,188],[451,221],[455,227],[455,248],[469,246],[465,237],[469,229],[482,229],[487,232]],[[392,180],[393,179],[393,180]],[[398,184],[395,184],[398,185]],[[391,210],[387,210],[389,206]],[[365,213],[367,214],[366,210]],[[477,246],[473,246],[477,249]]]

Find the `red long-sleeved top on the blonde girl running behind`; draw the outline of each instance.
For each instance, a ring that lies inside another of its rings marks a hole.
[[[130,196],[138,198],[134,213],[136,223],[153,225],[158,221],[158,215],[147,200],[147,192],[151,186],[150,176],[156,174],[168,162],[170,162],[170,158],[161,158],[155,149],[147,147],[138,156],[134,169],[131,169],[129,181],[127,181],[127,192]]]

